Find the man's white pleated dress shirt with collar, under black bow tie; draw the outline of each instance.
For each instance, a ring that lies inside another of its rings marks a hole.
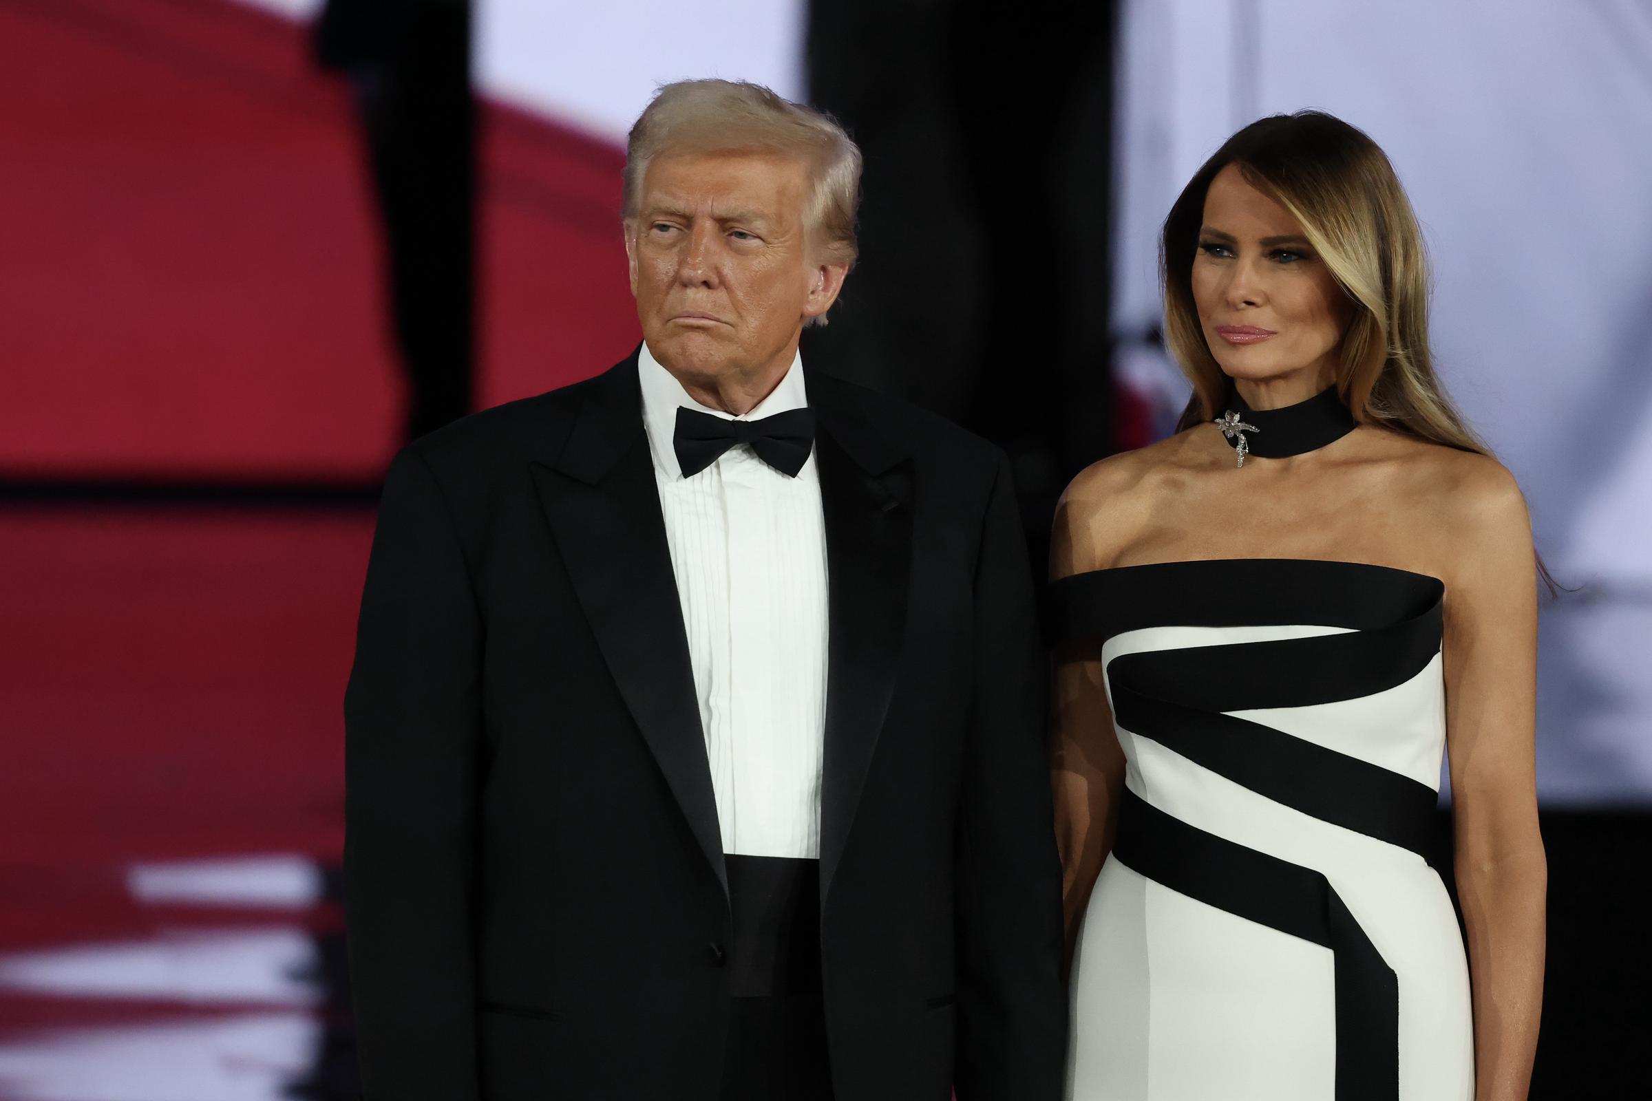
[[[724,852],[819,857],[826,736],[826,523],[811,452],[796,477],[730,447],[682,477],[677,408],[755,421],[808,406],[803,366],[750,413],[702,406],[638,355],[643,424],[689,636]]]

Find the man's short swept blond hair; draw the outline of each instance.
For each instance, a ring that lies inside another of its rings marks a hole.
[[[854,267],[861,246],[861,149],[838,120],[747,81],[662,84],[626,142],[623,216],[634,223],[648,165],[664,152],[775,150],[798,157],[809,173],[803,224],[814,246]],[[814,322],[824,325],[826,317]]]

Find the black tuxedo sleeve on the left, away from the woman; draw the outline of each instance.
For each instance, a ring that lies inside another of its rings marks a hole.
[[[385,479],[345,692],[345,911],[365,1101],[477,1101],[481,616],[415,451]]]

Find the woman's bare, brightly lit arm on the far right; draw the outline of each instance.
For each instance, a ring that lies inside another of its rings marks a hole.
[[[1543,1004],[1548,865],[1536,807],[1536,558],[1515,480],[1459,505],[1446,594],[1446,731],[1457,895],[1474,982],[1475,1101],[1525,1101]]]

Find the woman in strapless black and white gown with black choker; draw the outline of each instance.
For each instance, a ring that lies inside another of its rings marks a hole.
[[[1222,145],[1161,246],[1183,431],[1056,520],[1069,1096],[1525,1098],[1541,566],[1434,380],[1416,216],[1300,112]]]

